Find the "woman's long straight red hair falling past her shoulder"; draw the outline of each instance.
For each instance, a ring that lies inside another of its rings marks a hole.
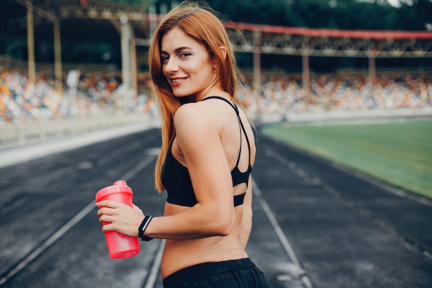
[[[159,192],[164,191],[164,186],[161,183],[161,173],[166,154],[175,137],[174,115],[181,106],[181,99],[173,95],[173,90],[164,77],[160,57],[162,38],[173,28],[179,28],[199,44],[204,45],[210,58],[217,62],[219,84],[222,89],[233,97],[233,102],[241,106],[236,93],[240,73],[222,21],[216,17],[215,12],[209,7],[204,8],[197,3],[181,3],[159,23],[148,52],[153,97],[161,113],[162,146],[155,166],[155,186]],[[220,46],[226,48],[226,56],[220,51]]]

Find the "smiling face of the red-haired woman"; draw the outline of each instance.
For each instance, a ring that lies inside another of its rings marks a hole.
[[[206,48],[179,28],[162,37],[162,71],[176,97],[201,99],[215,85],[217,73]]]

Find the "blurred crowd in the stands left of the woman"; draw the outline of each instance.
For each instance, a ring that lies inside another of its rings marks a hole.
[[[52,75],[41,73],[31,84],[25,73],[0,67],[0,124],[140,113],[149,109],[149,97],[125,89],[115,73],[81,74],[72,70],[63,78],[59,93]]]

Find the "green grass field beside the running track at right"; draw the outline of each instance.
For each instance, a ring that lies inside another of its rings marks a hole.
[[[273,124],[274,137],[337,164],[432,198],[432,120],[388,124]]]

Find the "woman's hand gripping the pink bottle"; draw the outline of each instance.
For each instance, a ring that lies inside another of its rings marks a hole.
[[[105,223],[102,232],[117,231],[127,236],[138,237],[138,228],[144,220],[144,213],[135,204],[129,207],[121,202],[106,200],[97,202],[96,207],[99,207],[99,222]]]

